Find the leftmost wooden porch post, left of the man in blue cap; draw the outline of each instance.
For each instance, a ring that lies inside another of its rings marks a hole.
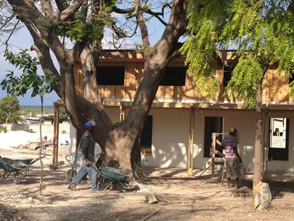
[[[58,168],[58,136],[59,136],[59,105],[56,102],[53,103],[54,107],[54,134],[53,134],[53,167]]]

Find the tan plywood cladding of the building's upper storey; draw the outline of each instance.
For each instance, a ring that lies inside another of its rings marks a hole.
[[[224,61],[230,60],[232,51],[223,52],[221,58]],[[183,67],[185,58],[177,58],[169,63],[169,67]],[[132,101],[136,94],[136,89],[140,84],[140,80],[143,76],[144,69],[144,57],[143,53],[124,50],[124,51],[103,51],[98,62],[98,67],[125,67],[125,85],[99,85],[98,94],[102,100],[130,100]],[[98,68],[99,73],[99,68]],[[277,65],[273,64],[268,69],[264,80],[262,82],[263,87],[263,100],[265,102],[273,103],[285,103],[292,102],[291,98],[288,98],[288,80],[289,78],[282,78],[284,72],[281,73],[281,78],[277,73]],[[75,89],[77,94],[83,94],[83,80],[82,71],[80,68],[80,62],[75,65]],[[206,94],[201,94],[196,91],[196,85],[194,82],[194,74],[187,73],[185,86],[159,86],[155,96],[155,100],[159,102],[170,103],[192,103],[193,101],[201,101],[201,103],[210,103],[210,100],[217,102],[235,103],[235,98],[226,96],[223,98],[222,94],[224,91],[223,87],[223,67],[217,65],[216,72],[217,81],[220,84],[220,91],[214,97],[208,97]],[[119,106],[119,105],[118,105]]]

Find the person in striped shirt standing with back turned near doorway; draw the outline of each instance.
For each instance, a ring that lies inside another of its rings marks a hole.
[[[241,177],[241,171],[239,163],[242,163],[242,159],[237,150],[237,135],[238,131],[232,127],[230,128],[230,134],[226,136],[221,142],[221,146],[225,149],[225,163],[227,174],[227,187],[230,186],[231,175],[235,177],[235,188],[239,188],[239,177]]]

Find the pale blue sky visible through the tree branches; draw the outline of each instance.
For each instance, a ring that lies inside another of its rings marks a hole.
[[[121,16],[121,15],[120,15]],[[165,17],[165,19],[168,19],[168,16]],[[148,24],[149,25],[149,35],[150,35],[150,43],[151,45],[156,44],[158,39],[160,38],[160,35],[163,33],[163,28],[158,28],[158,27],[163,27],[162,24],[159,24],[159,22],[155,19],[151,19]],[[1,35],[0,35],[1,37]],[[106,39],[110,39],[111,35],[109,34],[108,36],[105,36]],[[130,44],[134,43],[140,43],[140,37],[133,37],[132,39],[125,39],[122,41],[122,48],[129,48]],[[26,28],[22,28],[19,33],[12,38],[12,42],[10,41],[10,48],[9,50],[17,53],[19,49],[23,48],[30,48],[30,46],[33,44],[33,39],[30,37],[30,34],[28,33],[28,30]],[[109,46],[105,46],[105,49],[110,49]],[[5,48],[3,46],[0,46],[0,81],[2,81],[6,74],[8,73],[7,71],[14,71],[14,73],[21,73],[21,70],[15,69],[11,64],[9,64],[5,59],[3,58],[3,51]],[[33,57],[37,57],[34,52],[30,52],[30,54]],[[42,69],[39,69],[40,73],[42,73]],[[31,92],[29,91],[28,94],[24,97],[18,97],[17,99],[19,100],[19,105],[41,105],[41,100],[39,96],[32,98]],[[3,91],[0,88],[0,99],[8,96],[6,94],[6,91]],[[45,94],[44,95],[44,105],[53,105],[53,102],[57,101],[60,99],[57,94],[53,91],[51,94]]]

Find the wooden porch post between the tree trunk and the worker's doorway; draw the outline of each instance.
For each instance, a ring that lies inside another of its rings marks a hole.
[[[190,107],[190,130],[189,130],[189,150],[188,150],[188,176],[193,175],[193,158],[194,158],[194,107]]]

